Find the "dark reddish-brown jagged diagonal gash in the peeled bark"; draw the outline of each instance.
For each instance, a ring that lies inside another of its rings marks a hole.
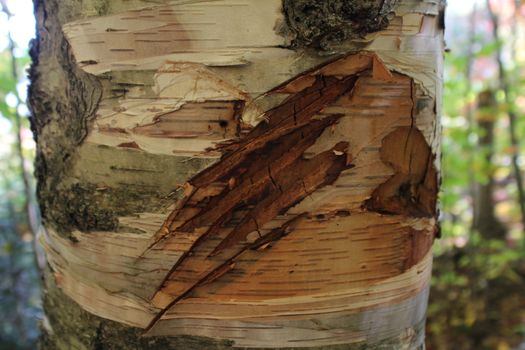
[[[226,154],[220,162],[189,181],[187,188],[191,192],[183,199],[184,206],[166,222],[168,236],[160,239],[200,230],[191,251],[208,235],[217,235],[221,227],[231,226],[227,236],[210,253],[213,256],[245,242],[250,233],[256,233],[255,242],[266,240],[267,235],[278,237],[276,232],[284,230],[289,221],[267,234],[261,233],[260,228],[277,215],[285,214],[288,208],[316,189],[332,184],[344,169],[351,166],[347,142],[339,142],[310,159],[304,159],[303,154],[341,115],[321,120],[312,120],[312,117],[350,92],[355,81],[353,76],[344,79],[317,76],[311,86],[269,111],[266,123],[260,124],[244,139],[225,146]],[[257,161],[253,162],[253,159]],[[179,259],[166,280],[178,278],[175,274],[184,259],[185,256]],[[226,259],[205,273],[203,278],[196,274],[198,279],[193,285],[188,284],[187,290],[168,292],[173,295],[170,303],[231,265]],[[180,268],[184,269],[184,266]],[[160,291],[163,297],[167,294],[165,289],[169,291],[169,287]],[[166,307],[165,298],[156,300],[158,306]]]

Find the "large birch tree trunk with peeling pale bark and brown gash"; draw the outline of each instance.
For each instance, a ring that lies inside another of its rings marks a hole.
[[[35,0],[43,349],[419,349],[438,0]]]

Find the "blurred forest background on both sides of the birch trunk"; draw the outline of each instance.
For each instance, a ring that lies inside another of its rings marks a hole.
[[[0,0],[0,350],[45,322],[30,112],[31,0]],[[525,349],[525,1],[449,0],[441,239],[427,349]]]

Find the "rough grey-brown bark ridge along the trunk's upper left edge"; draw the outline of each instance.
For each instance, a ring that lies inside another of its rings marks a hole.
[[[61,188],[61,183],[71,171],[102,96],[98,79],[75,63],[58,20],[59,7],[56,0],[35,0],[37,38],[31,45],[29,71],[37,196],[44,222],[53,226],[67,217],[55,210],[69,200],[69,189]]]

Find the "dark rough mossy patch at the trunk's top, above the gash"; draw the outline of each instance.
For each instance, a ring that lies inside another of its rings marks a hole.
[[[295,48],[328,50],[388,26],[397,0],[283,0]]]

